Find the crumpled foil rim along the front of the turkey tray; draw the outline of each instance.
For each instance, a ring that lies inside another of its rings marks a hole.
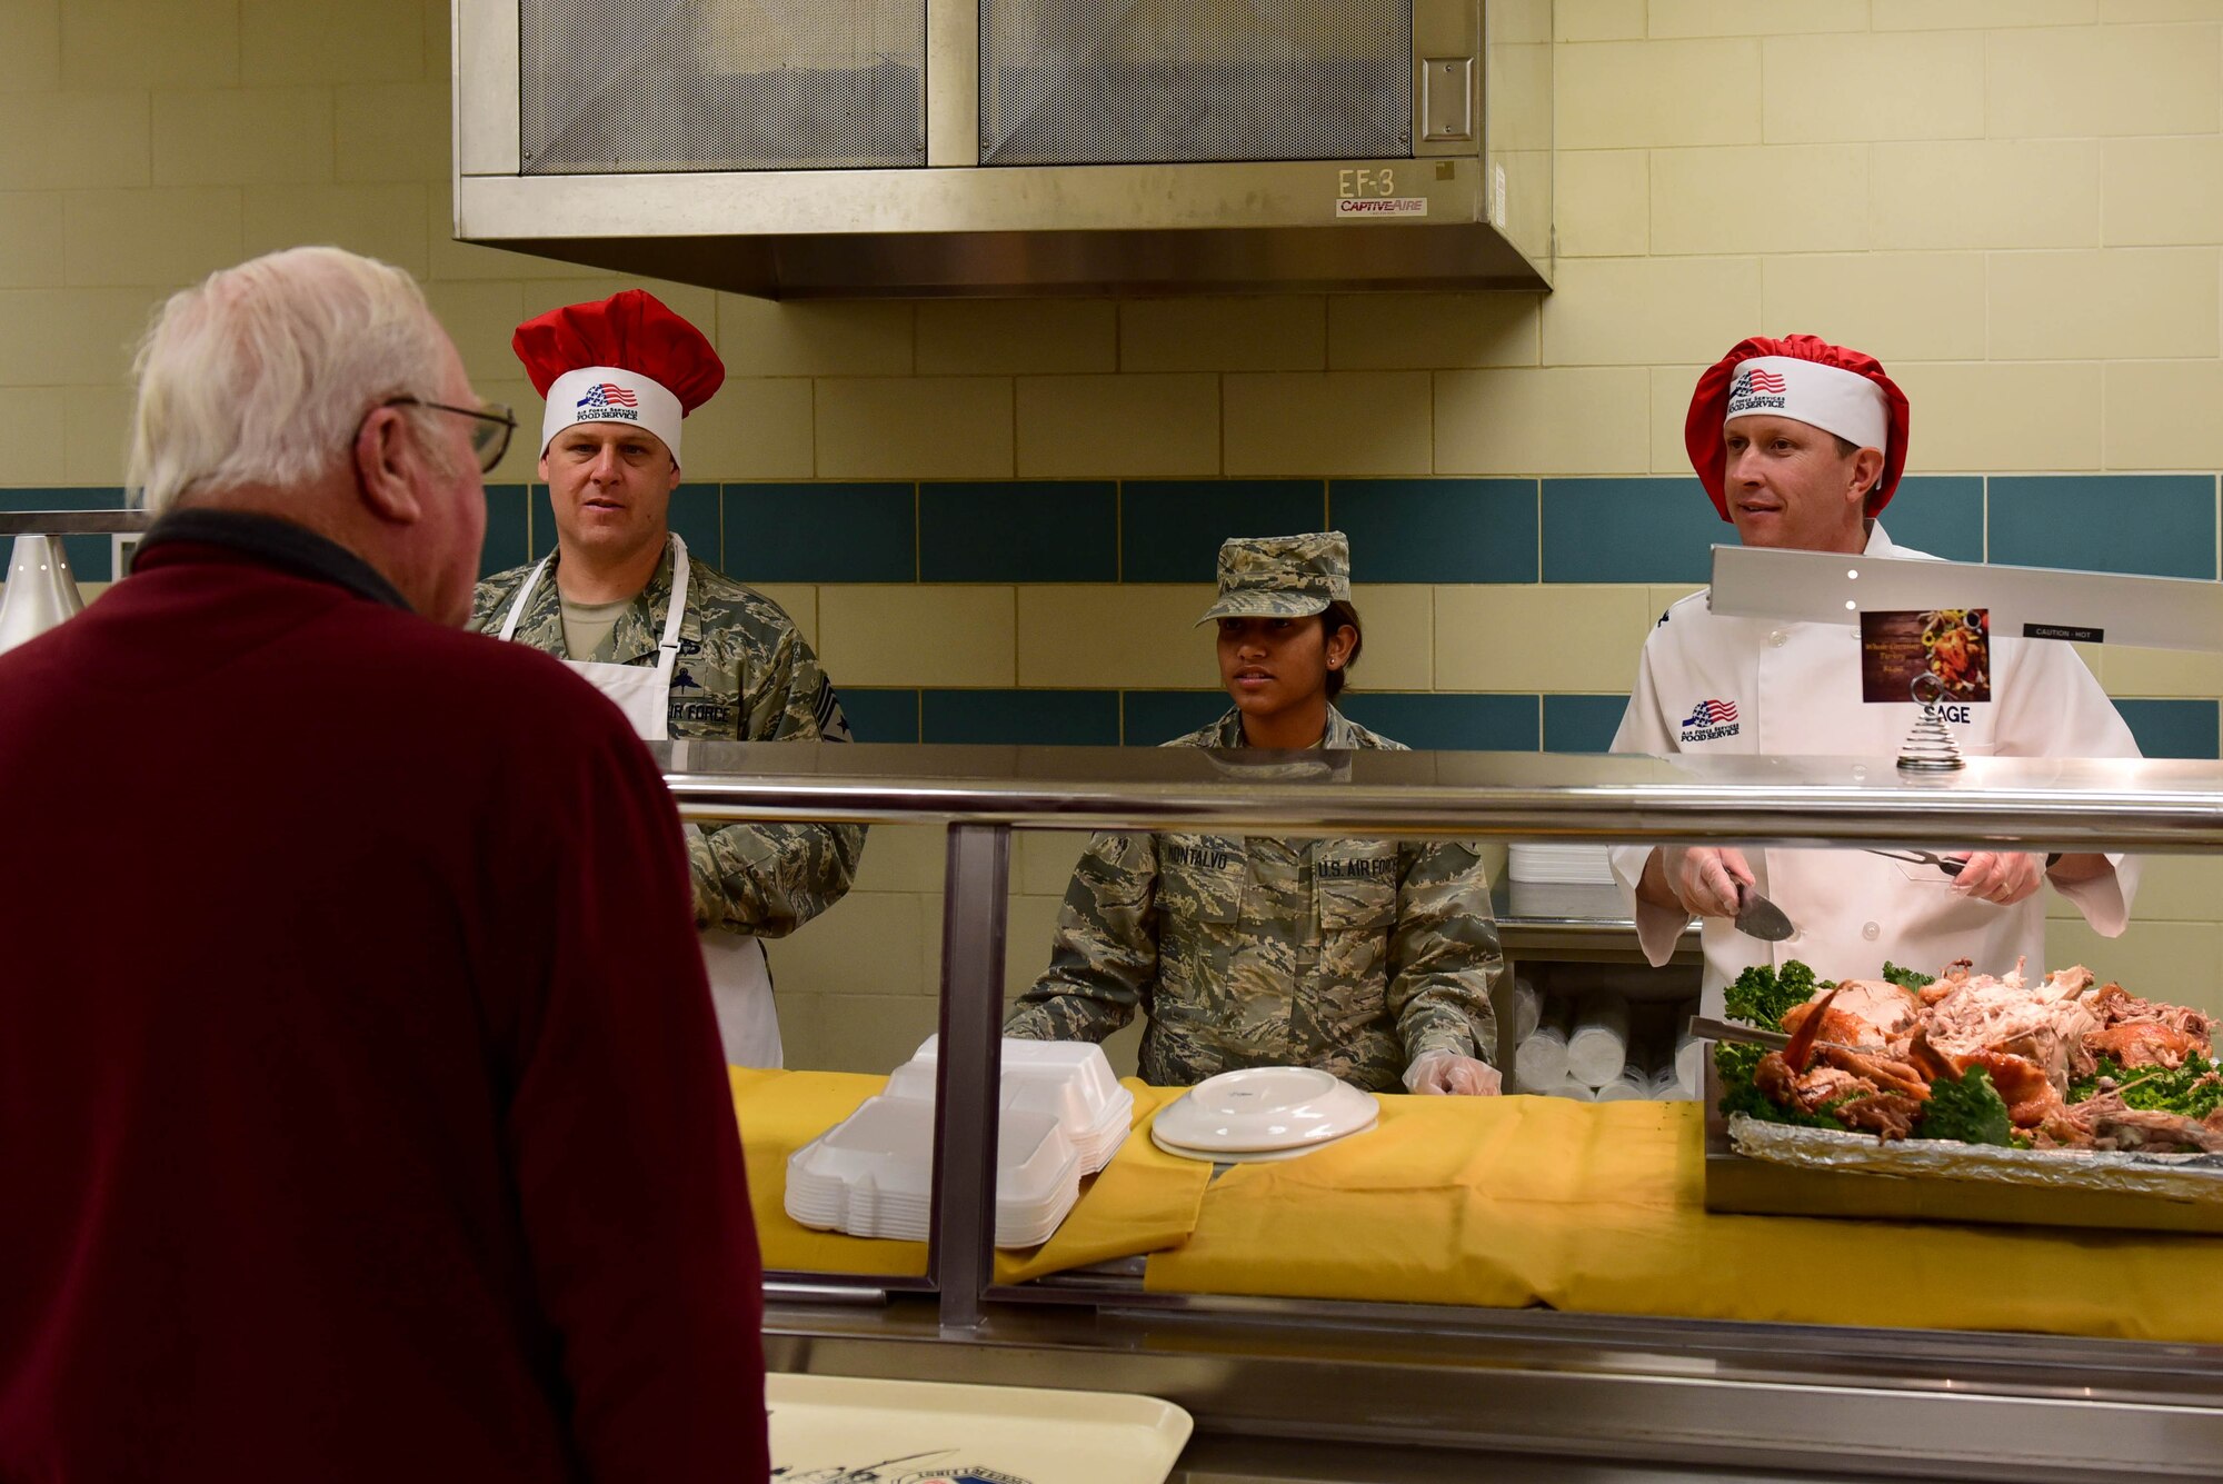
[[[1770,1124],[1736,1113],[1729,1146],[1770,1164],[1901,1180],[1956,1180],[2038,1191],[2159,1195],[2223,1211],[2223,1155],[1994,1149],[1954,1140],[1894,1140],[1870,1133]]]

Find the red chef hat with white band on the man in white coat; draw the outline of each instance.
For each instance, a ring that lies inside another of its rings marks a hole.
[[[1874,355],[1816,335],[1754,335],[1698,378],[1689,393],[1689,418],[1683,420],[1683,447],[1723,520],[1729,518],[1723,427],[1729,418],[1754,413],[1810,422],[1863,449],[1878,449],[1883,478],[1867,493],[1867,513],[1892,502],[1907,467],[1907,393],[1898,391]]]

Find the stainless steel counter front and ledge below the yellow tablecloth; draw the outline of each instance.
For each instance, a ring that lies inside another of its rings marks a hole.
[[[1007,1304],[951,1335],[898,1295],[776,1308],[765,1348],[780,1371],[1158,1395],[1196,1417],[1198,1477],[2127,1484],[2223,1457],[2223,1353],[2194,1346],[1272,1300]]]

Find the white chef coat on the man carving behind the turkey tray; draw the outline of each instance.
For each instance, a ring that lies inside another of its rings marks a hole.
[[[1872,558],[1927,558],[1892,544],[1876,524]],[[1934,560],[1934,558],[1930,558]],[[1729,709],[1734,706],[1734,718]],[[1921,706],[1861,700],[1861,629],[1725,618],[1692,593],[1667,609],[1636,671],[1636,691],[1614,733],[1616,753],[1772,753],[1896,758]],[[1972,758],[2136,758],[2139,744],[2083,658],[2052,640],[1992,638],[1992,700],[1952,724]],[[1636,900],[1654,846],[1614,849],[1614,878],[1636,913],[1645,957],[1665,964],[1689,918]],[[2045,962],[2045,893],[2014,906],[1952,891],[1936,866],[1865,851],[1747,849],[1756,889],[1796,924],[1785,942],[1738,933],[1705,918],[1701,1009],[1721,1015],[1721,991],[1752,964],[1803,960],[1825,980],[1878,977],[1883,962],[1936,973],[1967,957],[2005,973],[2018,957]],[[2105,937],[2130,924],[2139,882],[2134,858],[2092,882],[2054,884]]]

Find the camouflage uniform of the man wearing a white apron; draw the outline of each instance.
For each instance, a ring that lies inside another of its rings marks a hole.
[[[691,553],[689,553],[691,555]],[[560,562],[560,558],[558,558]],[[522,644],[574,658],[562,638],[556,566],[518,618]],[[500,633],[518,584],[534,566],[487,578],[471,595],[471,629]],[[671,544],[656,575],[618,615],[611,664],[654,664],[671,609]],[[849,722],[818,655],[762,593],[689,560],[680,655],[671,671],[674,740],[847,742]],[[856,878],[865,831],[856,824],[689,824],[696,926],[782,937],[834,906]]]

